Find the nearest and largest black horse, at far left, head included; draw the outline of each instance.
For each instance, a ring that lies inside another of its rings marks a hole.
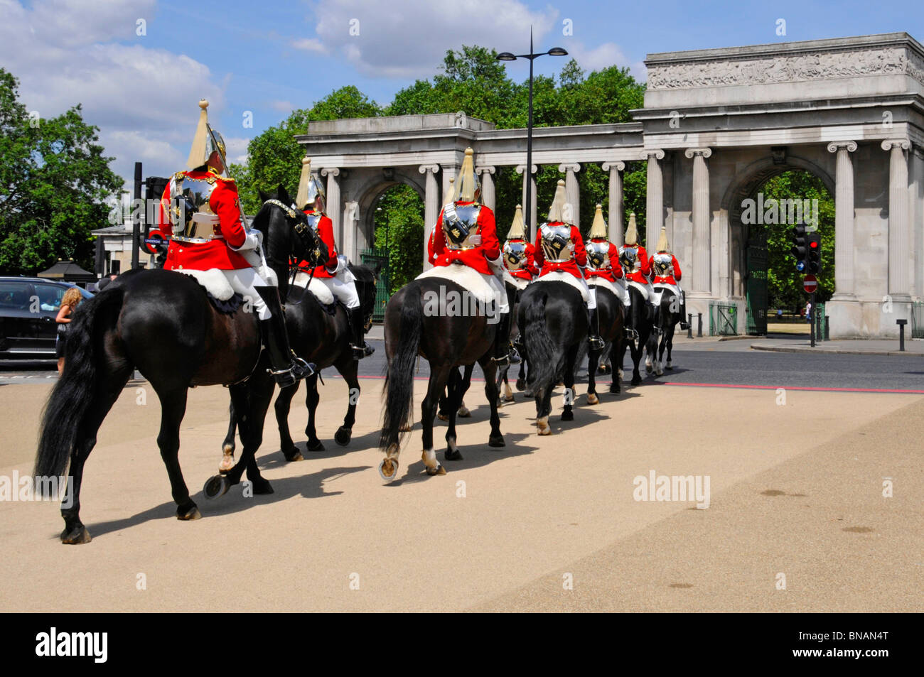
[[[280,189],[278,198],[264,203],[254,219],[253,227],[263,233],[268,259],[287,260],[287,252],[296,243],[310,260],[326,259],[326,247],[311,233],[304,214],[287,207],[289,203]],[[293,235],[295,228],[299,237]],[[276,273],[285,274],[285,269]],[[261,477],[254,454],[262,440],[274,381],[267,373],[269,360],[261,353],[257,316],[249,310],[245,304],[234,312],[220,311],[196,280],[164,270],[123,273],[103,292],[80,304],[67,330],[64,371],[45,407],[34,471],[37,477],[60,477],[70,464],[73,483],[61,507],[64,543],[91,539],[79,517],[83,465],[103,419],[134,369],[151,383],[161,402],[157,444],[178,519],[201,517],[177,459],[179,427],[192,386],[229,386],[237,411],[242,413],[244,452],[221,480],[224,487],[212,486],[207,493],[224,493],[222,489],[237,484],[245,469],[254,493],[273,491]],[[214,479],[207,487],[214,485]]]

